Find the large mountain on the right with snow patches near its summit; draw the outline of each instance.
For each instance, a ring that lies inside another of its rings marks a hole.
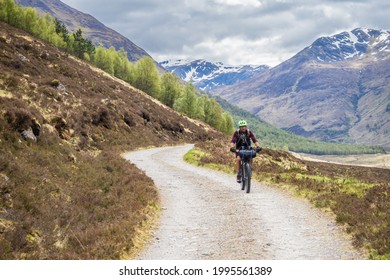
[[[390,147],[390,34],[354,29],[212,92],[285,130]]]

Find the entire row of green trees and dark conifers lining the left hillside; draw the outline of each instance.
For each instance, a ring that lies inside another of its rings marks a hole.
[[[190,118],[227,134],[234,130],[232,116],[214,98],[199,94],[192,82],[183,83],[172,73],[160,75],[150,57],[132,63],[123,48],[95,47],[84,38],[80,28],[70,33],[56,18],[49,14],[40,16],[34,8],[16,5],[14,0],[0,0],[0,20],[90,62]]]

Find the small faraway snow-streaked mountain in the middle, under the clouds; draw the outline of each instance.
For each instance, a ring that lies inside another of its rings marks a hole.
[[[269,68],[266,65],[228,66],[222,62],[213,63],[204,59],[167,60],[160,62],[160,65],[184,81],[192,80],[203,91],[233,85]]]

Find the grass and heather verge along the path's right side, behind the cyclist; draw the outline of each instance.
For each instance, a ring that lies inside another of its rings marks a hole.
[[[189,163],[232,173],[226,144],[206,142],[186,155]],[[265,149],[254,161],[254,179],[286,188],[335,214],[370,259],[390,259],[390,170],[299,160]]]

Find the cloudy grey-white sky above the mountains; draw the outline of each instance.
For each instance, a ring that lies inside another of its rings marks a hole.
[[[145,49],[155,60],[275,66],[320,36],[390,30],[386,0],[61,0]]]

